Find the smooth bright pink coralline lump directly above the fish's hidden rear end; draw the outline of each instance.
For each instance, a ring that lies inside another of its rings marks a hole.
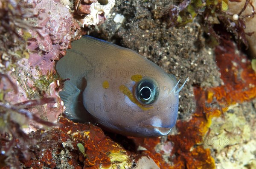
[[[38,13],[38,32],[30,30],[32,35],[29,41],[29,56],[31,66],[39,68],[47,73],[53,69],[55,60],[65,55],[70,42],[79,34],[79,25],[72,17],[69,9],[59,1],[43,0],[34,8]],[[41,53],[40,53],[41,52]]]

